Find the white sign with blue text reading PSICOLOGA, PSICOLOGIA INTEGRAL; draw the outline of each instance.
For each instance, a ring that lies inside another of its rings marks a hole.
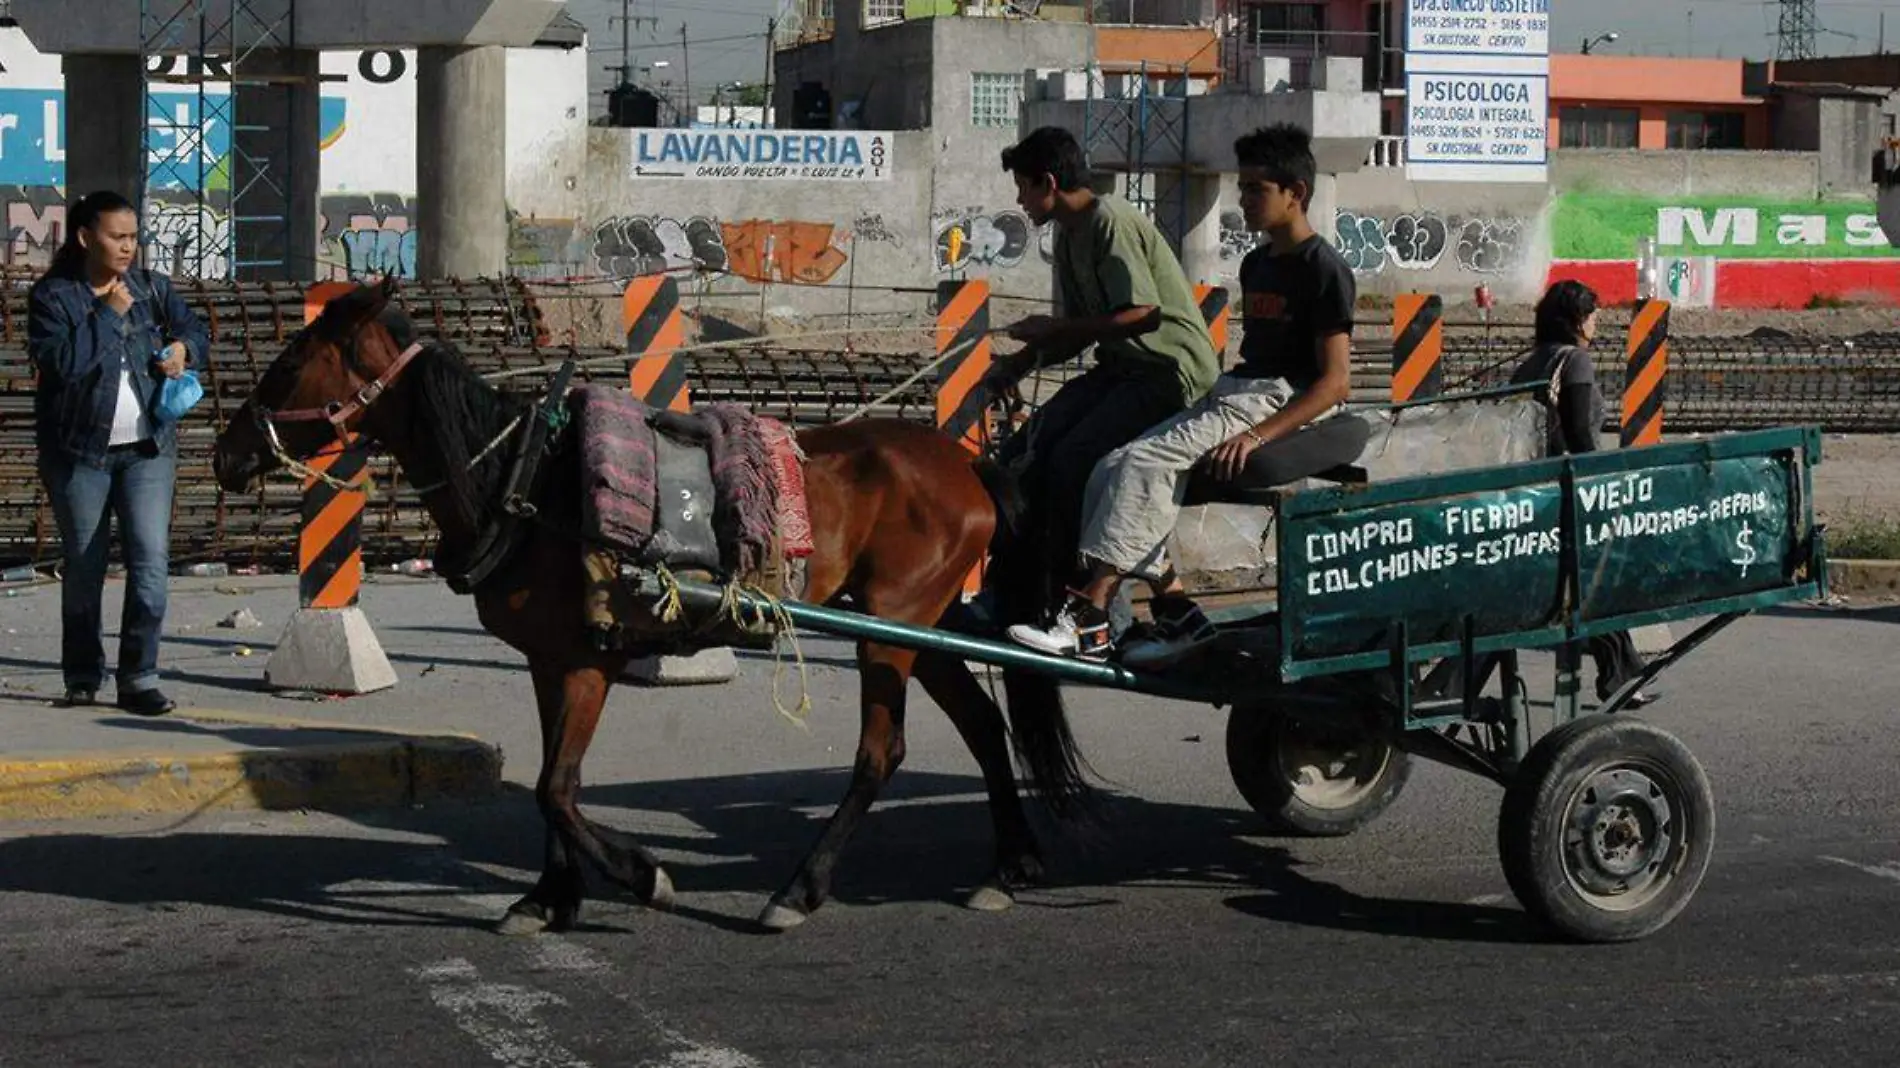
[[[1545,163],[1550,80],[1535,74],[1406,76],[1414,163]]]

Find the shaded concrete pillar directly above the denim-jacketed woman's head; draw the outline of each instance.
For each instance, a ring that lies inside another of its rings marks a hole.
[[[144,70],[137,55],[66,55],[66,203],[95,190],[137,201],[144,184]],[[61,234],[65,238],[65,234]]]

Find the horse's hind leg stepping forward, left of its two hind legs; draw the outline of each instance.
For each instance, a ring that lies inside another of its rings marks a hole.
[[[825,825],[825,834],[798,867],[798,874],[785,886],[758,922],[783,931],[804,924],[806,918],[830,897],[832,868],[844,851],[859,821],[878,800],[878,791],[891,781],[891,773],[904,762],[904,690],[910,686],[910,665],[916,652],[861,642],[857,654],[859,686],[863,690],[863,716],[857,735],[857,762],[851,766],[851,787]]]

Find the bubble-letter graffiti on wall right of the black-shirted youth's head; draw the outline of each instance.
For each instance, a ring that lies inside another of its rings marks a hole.
[[[1530,228],[1530,222],[1507,217],[1434,211],[1381,217],[1341,209],[1334,215],[1334,245],[1358,274],[1433,270],[1440,264],[1471,274],[1503,274],[1526,262]]]

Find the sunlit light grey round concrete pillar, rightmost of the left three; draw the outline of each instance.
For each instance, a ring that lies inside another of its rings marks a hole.
[[[507,272],[507,53],[416,51],[416,274]]]

